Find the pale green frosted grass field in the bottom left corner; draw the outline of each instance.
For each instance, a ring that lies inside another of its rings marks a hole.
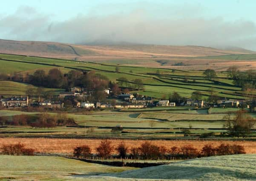
[[[6,180],[66,180],[71,175],[98,175],[132,169],[54,156],[0,156],[0,160],[0,179]]]

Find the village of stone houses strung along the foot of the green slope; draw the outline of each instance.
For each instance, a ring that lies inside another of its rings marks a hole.
[[[29,96],[14,96],[3,97],[0,99],[0,107],[2,109],[25,108],[25,107],[40,107],[49,110],[61,110],[63,108],[81,108],[81,109],[141,109],[150,107],[175,107],[175,106],[191,106],[194,108],[204,107],[219,107],[219,108],[249,108],[249,104],[244,100],[235,99],[219,99],[216,102],[207,102],[203,99],[182,98],[178,101],[169,99],[156,99],[139,95],[138,93],[120,92],[118,95],[113,95],[110,88],[105,89],[106,99],[98,101],[89,101],[92,91],[86,92],[84,88],[73,87],[71,92],[61,92],[59,95],[52,96],[51,99],[46,97],[29,97]],[[86,100],[86,101],[83,101]]]

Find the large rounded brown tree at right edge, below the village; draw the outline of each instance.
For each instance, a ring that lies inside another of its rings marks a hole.
[[[225,120],[224,128],[228,129],[230,136],[246,136],[250,134],[250,130],[256,123],[256,120],[253,117],[246,114],[246,111],[239,110],[236,111],[235,117],[232,119],[231,114],[224,116]]]

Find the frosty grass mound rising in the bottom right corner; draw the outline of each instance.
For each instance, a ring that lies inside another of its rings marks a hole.
[[[256,155],[213,156],[106,176],[133,179],[255,180],[255,159]]]

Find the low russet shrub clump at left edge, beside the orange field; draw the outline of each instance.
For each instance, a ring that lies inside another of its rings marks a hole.
[[[3,145],[1,148],[1,152],[6,155],[27,155],[27,156],[34,155],[35,153],[34,149],[24,148],[24,147],[25,145],[21,143]]]

